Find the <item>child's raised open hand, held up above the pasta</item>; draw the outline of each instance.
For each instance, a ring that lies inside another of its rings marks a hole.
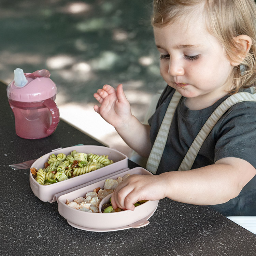
[[[115,90],[110,85],[104,85],[102,89],[98,89],[94,97],[101,104],[95,105],[94,110],[99,113],[106,122],[115,128],[129,122],[131,118],[130,103],[126,99],[123,85],[119,84]]]

